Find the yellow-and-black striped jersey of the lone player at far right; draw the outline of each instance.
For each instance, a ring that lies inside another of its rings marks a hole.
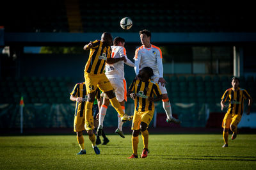
[[[226,102],[228,100],[228,113],[230,114],[243,114],[244,111],[244,99],[251,98],[249,93],[245,89],[238,88],[234,91],[233,88],[227,89],[221,100]]]

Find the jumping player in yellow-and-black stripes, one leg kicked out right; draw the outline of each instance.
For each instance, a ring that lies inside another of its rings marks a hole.
[[[112,43],[112,35],[105,32],[102,34],[101,40],[95,40],[94,42],[84,45],[84,50],[90,49],[89,58],[84,68],[84,79],[88,93],[88,98],[85,104],[85,125],[86,130],[88,130],[88,135],[92,135],[94,139],[92,106],[97,87],[99,87],[102,92],[106,93],[109,98],[109,102],[121,116],[121,120],[123,122],[132,119],[132,116],[128,116],[124,113],[118,100],[116,100],[113,88],[108,78],[103,72],[106,63],[111,63],[111,61],[113,61],[113,58],[111,58]]]

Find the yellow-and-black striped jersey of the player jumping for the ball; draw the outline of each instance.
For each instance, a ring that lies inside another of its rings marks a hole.
[[[111,46],[106,46],[102,41],[95,40],[92,49],[90,49],[89,59],[85,65],[84,72],[93,74],[103,73],[108,58],[111,58]]]

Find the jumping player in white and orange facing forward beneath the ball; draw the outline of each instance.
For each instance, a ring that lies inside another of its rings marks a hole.
[[[180,123],[180,120],[173,118],[172,107],[168,98],[167,90],[165,88],[166,81],[163,78],[163,57],[159,47],[150,43],[151,32],[147,29],[140,31],[141,47],[136,49],[134,56],[134,70],[138,75],[140,68],[148,66],[154,71],[154,82],[159,84],[159,88],[163,95],[163,108],[166,112],[168,123]]]

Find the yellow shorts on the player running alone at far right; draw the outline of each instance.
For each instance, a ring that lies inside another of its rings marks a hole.
[[[237,127],[238,123],[241,120],[241,114],[228,114],[226,113],[223,121],[222,121],[222,127],[223,128],[230,128],[230,125]]]

